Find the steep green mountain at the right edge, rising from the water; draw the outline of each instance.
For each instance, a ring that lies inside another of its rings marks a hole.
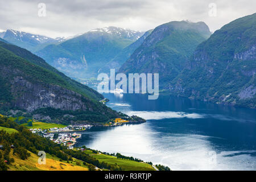
[[[234,20],[201,43],[169,85],[171,93],[256,107],[256,13]]]

